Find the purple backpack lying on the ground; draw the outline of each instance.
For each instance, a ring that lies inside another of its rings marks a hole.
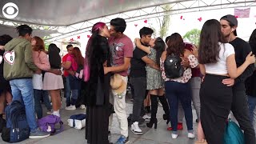
[[[56,128],[55,125],[58,124],[59,128]],[[38,119],[38,127],[40,128],[40,130],[54,135],[63,131],[63,122],[60,117],[51,114],[47,115],[44,118]]]

